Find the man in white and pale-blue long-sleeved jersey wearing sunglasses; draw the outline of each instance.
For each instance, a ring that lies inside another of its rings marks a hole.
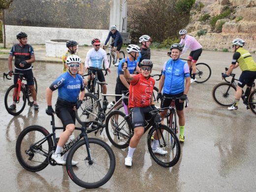
[[[111,70],[109,69],[109,63],[107,60],[107,54],[104,49],[100,48],[100,40],[98,38],[94,38],[92,40],[92,45],[94,48],[90,49],[87,52],[86,58],[85,58],[85,70],[88,69],[89,66],[96,67],[96,68],[102,68],[102,61],[104,60],[106,70],[111,73]],[[95,73],[95,70],[89,70],[89,72]],[[91,86],[91,78],[93,76],[88,76],[88,89],[90,89]],[[98,71],[98,80],[100,82],[106,83],[104,74],[102,71]],[[102,93],[107,94],[107,85],[102,85]],[[104,96],[103,102],[103,108],[106,109],[107,107],[107,99],[106,96]]]

